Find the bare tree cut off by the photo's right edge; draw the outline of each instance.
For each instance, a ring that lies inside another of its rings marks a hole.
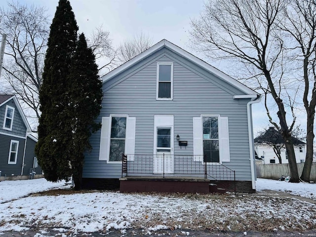
[[[313,162],[314,120],[316,106],[316,2],[314,0],[291,0],[280,19],[280,28],[287,33],[290,60],[288,67],[304,86],[303,103],[307,113],[306,159],[301,175],[310,181]]]

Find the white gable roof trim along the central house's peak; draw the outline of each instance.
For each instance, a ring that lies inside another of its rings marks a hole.
[[[136,63],[140,62],[141,60],[143,60],[147,56],[155,53],[156,51],[160,50],[163,47],[168,48],[171,51],[179,54],[180,56],[188,59],[189,61],[197,64],[198,66],[200,66],[204,70],[206,70],[206,71],[210,72],[211,74],[219,77],[220,79],[223,79],[224,81],[228,82],[229,84],[233,85],[234,87],[238,88],[239,90],[241,90],[242,92],[245,93],[245,95],[235,96],[234,98],[236,98],[236,99],[237,98],[257,98],[260,95],[259,93],[257,93],[254,90],[250,89],[246,85],[242,84],[241,82],[233,79],[232,77],[230,77],[227,74],[223,73],[222,71],[214,68],[210,64],[208,64],[208,63],[204,62],[203,60],[197,58],[196,56],[194,56],[193,54],[185,51],[184,49],[180,48],[179,46],[169,42],[168,40],[161,40],[161,41],[159,41],[158,43],[156,43],[155,45],[153,45],[149,49],[147,49],[144,52],[138,54],[136,57],[134,57],[131,60],[127,61],[126,63],[120,65],[115,70],[113,70],[113,71],[109,72],[108,74],[104,75],[103,77],[101,77],[103,83],[105,81],[108,81],[109,79],[114,78],[116,75],[118,75],[122,71],[124,71],[127,68],[135,65]]]

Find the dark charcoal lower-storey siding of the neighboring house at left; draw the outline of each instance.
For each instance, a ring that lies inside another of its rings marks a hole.
[[[19,141],[16,164],[8,164],[11,140]],[[21,175],[25,139],[0,134],[1,176]]]

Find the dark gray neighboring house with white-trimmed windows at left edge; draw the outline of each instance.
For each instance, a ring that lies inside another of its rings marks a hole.
[[[37,139],[15,95],[0,95],[0,179],[41,174],[35,156]]]

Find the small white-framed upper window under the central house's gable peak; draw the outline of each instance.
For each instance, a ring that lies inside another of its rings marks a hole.
[[[172,100],[173,63],[157,63],[157,100]]]

